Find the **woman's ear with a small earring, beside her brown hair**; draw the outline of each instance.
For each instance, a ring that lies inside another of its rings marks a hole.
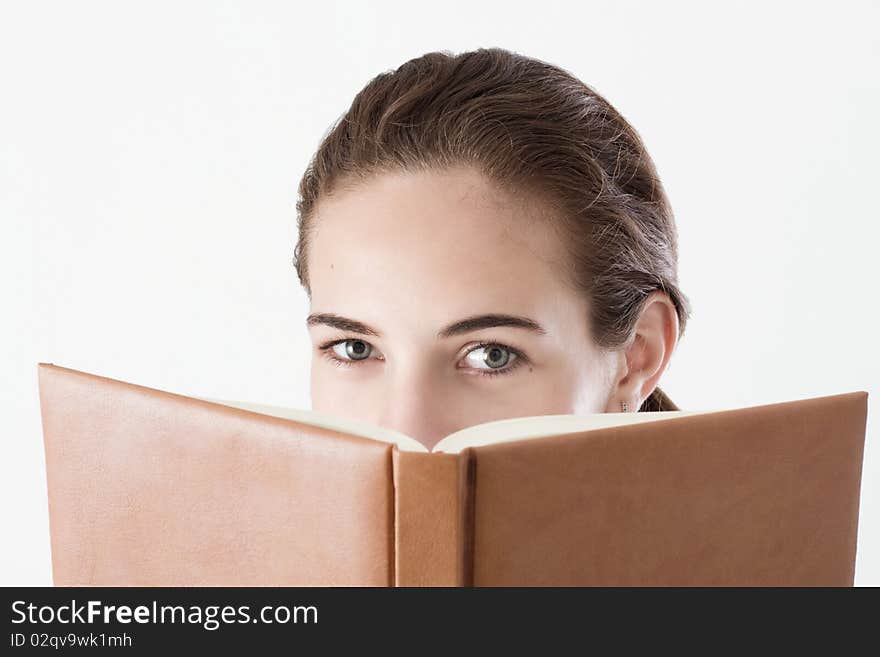
[[[678,342],[678,313],[660,290],[645,299],[633,336],[620,351],[606,413],[619,413],[621,402],[636,412],[654,392]]]

